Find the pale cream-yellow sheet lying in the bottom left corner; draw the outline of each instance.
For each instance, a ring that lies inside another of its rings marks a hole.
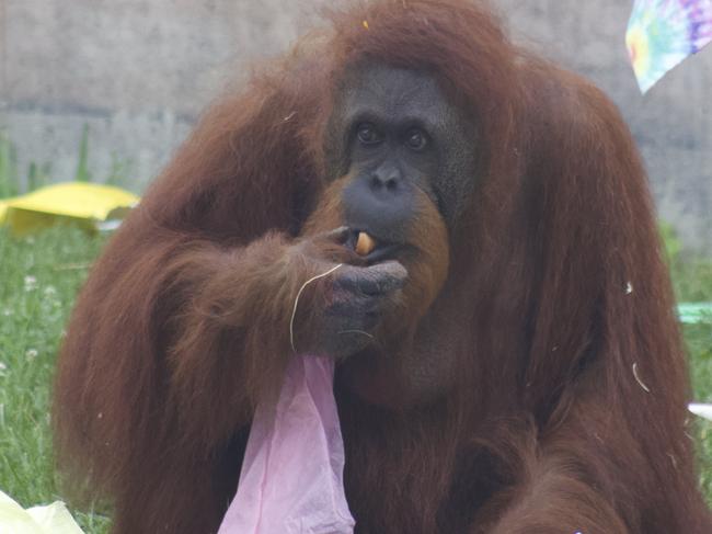
[[[83,534],[61,501],[24,510],[0,491],[0,533]]]

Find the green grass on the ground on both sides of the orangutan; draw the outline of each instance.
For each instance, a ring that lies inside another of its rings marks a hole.
[[[0,229],[0,489],[22,505],[62,499],[54,474],[49,390],[55,355],[77,289],[104,243],[73,228],[24,239]],[[712,300],[712,263],[673,262],[682,300]],[[712,402],[712,326],[685,327],[694,398]],[[696,423],[701,485],[712,504],[712,423]],[[90,534],[108,519],[72,510]]]

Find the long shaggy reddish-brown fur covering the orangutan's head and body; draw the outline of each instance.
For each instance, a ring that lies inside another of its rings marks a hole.
[[[56,382],[68,478],[111,498],[115,533],[216,532],[255,401],[291,354],[295,295],[324,271],[282,251],[328,203],[334,93],[375,61],[437,77],[478,124],[479,174],[447,280],[399,349],[402,365],[453,353],[456,386],[393,410],[338,368],[357,532],[712,532],[670,284],[618,111],[514,47],[480,3],[330,16],[205,115],[94,265]]]

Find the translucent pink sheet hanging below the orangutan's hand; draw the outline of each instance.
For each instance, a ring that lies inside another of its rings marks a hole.
[[[276,406],[257,406],[218,534],[352,534],[333,360],[292,357]]]

